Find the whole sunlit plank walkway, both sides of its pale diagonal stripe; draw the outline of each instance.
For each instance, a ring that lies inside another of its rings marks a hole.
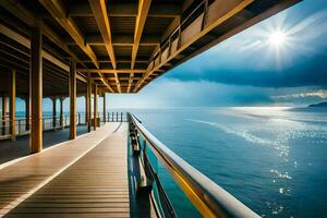
[[[0,170],[0,216],[129,217],[128,123]]]

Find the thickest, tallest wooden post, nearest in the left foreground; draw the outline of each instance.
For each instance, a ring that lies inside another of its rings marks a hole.
[[[32,104],[31,153],[43,149],[43,35],[39,27],[32,29],[29,99]]]

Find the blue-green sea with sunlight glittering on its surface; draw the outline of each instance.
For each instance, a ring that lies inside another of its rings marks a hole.
[[[326,108],[134,110],[170,149],[263,217],[327,217]],[[171,175],[179,217],[199,217]]]

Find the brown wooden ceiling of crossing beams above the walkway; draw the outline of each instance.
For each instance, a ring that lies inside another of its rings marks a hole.
[[[102,92],[136,93],[178,64],[296,2],[1,0],[0,23],[27,40],[32,26],[43,29],[43,47],[50,56],[44,61],[44,74],[52,87],[47,95],[68,89],[68,72],[53,60],[69,65],[72,58],[81,82],[90,74]],[[11,40],[0,34],[0,66],[15,68],[27,78],[29,49]]]

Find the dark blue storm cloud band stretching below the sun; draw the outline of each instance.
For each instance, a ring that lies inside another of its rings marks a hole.
[[[251,85],[257,87],[301,87],[320,86],[327,87],[327,55],[305,63],[298,64],[281,71],[274,70],[230,70],[230,69],[203,69],[204,74],[198,74],[182,68],[177,69],[168,77],[181,81],[201,81],[232,84]]]

